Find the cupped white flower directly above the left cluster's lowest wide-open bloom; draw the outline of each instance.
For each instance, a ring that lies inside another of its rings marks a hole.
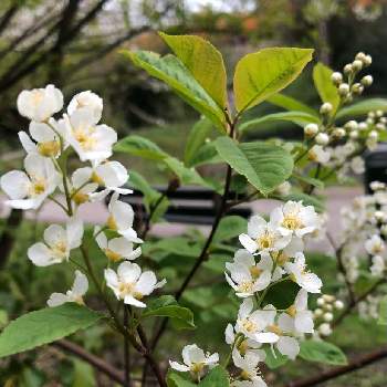
[[[133,261],[142,254],[142,248],[133,250],[133,243],[124,237],[107,240],[106,234],[101,231],[100,227],[95,228],[94,236],[100,249],[113,262]]]

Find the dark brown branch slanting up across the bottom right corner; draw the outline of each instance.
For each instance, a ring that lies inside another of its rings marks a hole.
[[[352,373],[356,369],[360,369],[363,367],[368,366],[375,362],[379,362],[387,357],[387,347],[383,347],[380,349],[373,351],[366,355],[358,356],[349,362],[348,365],[343,367],[336,367],[333,369],[325,370],[318,375],[312,376],[310,378],[290,381],[285,385],[285,387],[313,387],[317,386],[324,381],[337,378],[342,375]]]

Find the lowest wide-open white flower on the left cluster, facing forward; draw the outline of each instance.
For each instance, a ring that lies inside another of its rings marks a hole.
[[[125,304],[138,307],[146,307],[146,304],[139,300],[166,284],[166,280],[157,282],[154,272],[142,273],[138,264],[127,261],[119,264],[117,273],[112,269],[106,269],[105,280],[118,300],[124,300]]]

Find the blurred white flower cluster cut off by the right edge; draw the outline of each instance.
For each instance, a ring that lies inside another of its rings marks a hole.
[[[349,207],[342,209],[342,257],[352,283],[359,276],[362,260],[370,262],[373,276],[385,275],[387,268],[387,187],[374,181],[370,188],[373,195],[357,197]]]

